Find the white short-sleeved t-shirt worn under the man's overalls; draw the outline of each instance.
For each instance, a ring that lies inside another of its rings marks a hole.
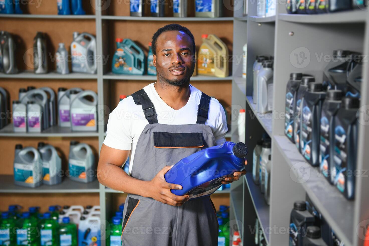
[[[169,107],[161,99],[158,92],[156,92],[154,83],[146,85],[144,90],[154,104],[158,123],[170,125],[196,124],[197,106],[201,99],[200,90],[190,85],[190,98],[187,104],[178,110]],[[215,98],[210,100],[208,119],[205,123],[210,125],[217,145],[223,144],[225,133],[228,131],[227,120],[222,105]],[[120,101],[109,115],[104,144],[114,149],[132,149],[130,153],[130,173],[138,138],[147,124],[149,123],[145,119],[142,106],[135,104],[132,97]]]

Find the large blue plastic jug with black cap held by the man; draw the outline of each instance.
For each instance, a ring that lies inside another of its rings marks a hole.
[[[190,199],[214,193],[225,177],[244,169],[247,146],[239,142],[225,142],[196,152],[177,162],[164,177],[166,182],[182,186],[171,190],[175,195],[189,195]]]

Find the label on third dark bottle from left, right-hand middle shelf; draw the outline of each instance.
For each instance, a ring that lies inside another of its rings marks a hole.
[[[304,101],[305,102],[305,101]],[[311,110],[309,107],[303,105],[302,109],[302,129],[301,129],[301,154],[310,161],[311,159]]]

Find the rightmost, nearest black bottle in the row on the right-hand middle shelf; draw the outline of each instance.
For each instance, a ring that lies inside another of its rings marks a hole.
[[[359,99],[344,97],[335,118],[335,186],[347,199],[354,199],[356,152],[358,147]]]

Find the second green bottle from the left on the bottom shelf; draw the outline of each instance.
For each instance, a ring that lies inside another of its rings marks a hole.
[[[39,246],[40,237],[38,236],[37,219],[31,217],[30,212],[24,212],[18,223],[17,245]]]

